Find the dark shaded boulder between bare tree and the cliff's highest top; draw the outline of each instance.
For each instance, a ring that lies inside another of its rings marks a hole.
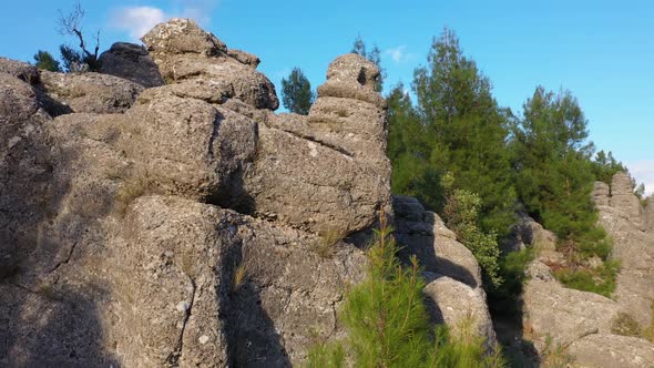
[[[147,50],[135,43],[116,42],[100,55],[102,73],[120,76],[145,88],[164,85]]]

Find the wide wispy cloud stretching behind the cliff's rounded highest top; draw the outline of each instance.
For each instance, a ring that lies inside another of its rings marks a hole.
[[[111,12],[109,25],[137,40],[157,23],[175,17],[191,18],[207,25],[217,4],[218,0],[170,0],[168,11],[154,7],[122,7]]]

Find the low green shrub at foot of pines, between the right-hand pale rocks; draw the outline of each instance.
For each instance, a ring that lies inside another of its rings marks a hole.
[[[595,269],[585,267],[578,269],[561,268],[554,272],[554,277],[565,287],[611,297],[615,290],[619,270],[619,260],[606,260],[604,265]]]

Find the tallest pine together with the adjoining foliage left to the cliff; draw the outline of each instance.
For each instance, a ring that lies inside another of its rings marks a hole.
[[[411,167],[392,173],[394,190],[421,192],[417,196],[426,206],[440,212],[444,197],[438,183],[451,172],[459,188],[481,197],[481,229],[504,235],[515,204],[505,145],[511,115],[498,106],[489,80],[463,55],[453,32],[446,30],[435,40],[428,62],[415,73],[416,108],[406,102],[401,86],[388,98],[390,140],[405,140],[389,144],[389,156],[394,168]],[[420,137],[406,139],[416,131]]]

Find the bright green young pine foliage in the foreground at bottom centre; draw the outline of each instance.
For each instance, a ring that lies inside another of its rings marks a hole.
[[[503,367],[499,350],[484,356],[483,338],[474,335],[471,320],[457,336],[444,326],[432,330],[418,263],[400,265],[390,233],[382,219],[368,249],[366,279],[346,294],[339,319],[348,339],[318,344],[308,366],[344,367],[348,354],[355,367]]]

